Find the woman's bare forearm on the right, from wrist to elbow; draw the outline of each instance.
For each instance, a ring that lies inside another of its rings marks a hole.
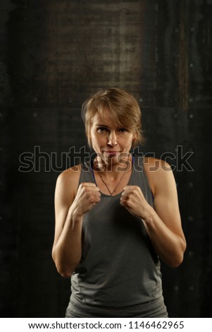
[[[170,267],[175,268],[179,266],[182,263],[186,247],[185,239],[170,230],[163,223],[154,208],[149,207],[142,221],[156,254]]]

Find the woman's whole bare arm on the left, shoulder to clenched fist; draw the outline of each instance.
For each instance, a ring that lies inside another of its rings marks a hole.
[[[99,189],[93,183],[79,188],[80,167],[61,173],[55,190],[55,237],[52,257],[58,272],[69,278],[82,256],[82,219],[100,200]]]

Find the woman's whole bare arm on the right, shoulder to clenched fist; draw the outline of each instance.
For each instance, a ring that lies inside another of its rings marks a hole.
[[[138,186],[126,186],[121,204],[142,219],[158,256],[171,267],[182,263],[186,248],[177,201],[175,179],[170,166],[154,158],[145,165],[146,175],[154,192],[154,208],[147,203]]]

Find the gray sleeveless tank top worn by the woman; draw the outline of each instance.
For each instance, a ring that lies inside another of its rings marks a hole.
[[[133,159],[128,185],[139,186],[153,206],[143,158]],[[81,182],[95,183],[89,162],[82,164]],[[156,316],[161,308],[166,312],[160,261],[142,220],[120,206],[120,196],[101,193],[101,201],[83,218],[82,259],[71,278],[70,313],[132,317]]]

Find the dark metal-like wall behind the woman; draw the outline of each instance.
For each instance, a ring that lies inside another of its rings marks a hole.
[[[162,265],[170,317],[212,317],[211,25],[211,0],[1,0],[1,317],[65,314],[56,178],[89,151],[82,102],[114,86],[142,107],[139,152],[176,156],[187,251],[179,268]],[[179,151],[193,152],[193,172]]]

